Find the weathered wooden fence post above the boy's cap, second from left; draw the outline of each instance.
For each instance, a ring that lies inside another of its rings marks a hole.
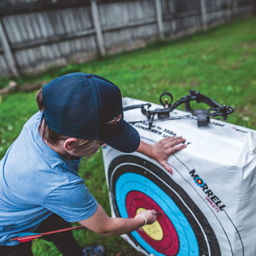
[[[104,56],[106,54],[105,46],[104,46],[104,40],[102,35],[102,29],[100,25],[100,16],[99,16],[99,10],[96,3],[96,0],[91,0],[91,11],[92,11],[92,20],[94,24],[94,29],[96,31],[96,38],[97,43],[100,49],[100,54]]]

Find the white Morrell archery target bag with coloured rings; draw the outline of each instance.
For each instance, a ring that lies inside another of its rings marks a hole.
[[[122,236],[148,256],[255,256],[256,131],[215,119],[198,127],[195,119],[182,119],[187,115],[175,109],[173,120],[154,121],[149,129],[139,108],[124,112],[142,141],[182,136],[187,147],[168,159],[172,175],[138,152],[102,148],[112,217],[163,212]]]

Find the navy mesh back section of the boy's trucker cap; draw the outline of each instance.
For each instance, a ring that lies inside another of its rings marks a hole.
[[[80,74],[62,76],[44,86],[45,122],[52,130],[63,135],[97,138],[98,98],[91,78]],[[53,116],[56,118],[53,119]]]

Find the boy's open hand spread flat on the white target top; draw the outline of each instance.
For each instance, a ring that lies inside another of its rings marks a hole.
[[[176,145],[184,143],[185,141],[186,140],[182,137],[175,136],[159,140],[152,145],[152,158],[164,166],[164,168],[172,174],[172,168],[167,164],[167,160],[172,154],[186,148],[186,145],[184,144],[175,147]]]

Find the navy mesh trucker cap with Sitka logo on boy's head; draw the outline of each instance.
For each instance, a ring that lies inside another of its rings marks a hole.
[[[67,74],[45,84],[42,95],[42,118],[53,131],[79,139],[98,138],[124,153],[139,147],[139,133],[124,121],[121,92],[105,78]]]

